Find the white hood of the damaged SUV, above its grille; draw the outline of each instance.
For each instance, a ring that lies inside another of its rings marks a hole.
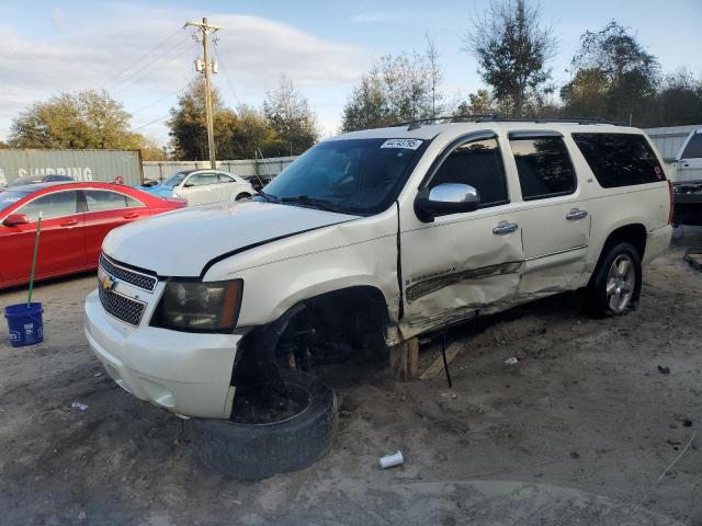
[[[356,218],[301,206],[225,202],[131,222],[112,230],[102,248],[117,261],[160,276],[199,276],[222,254]]]

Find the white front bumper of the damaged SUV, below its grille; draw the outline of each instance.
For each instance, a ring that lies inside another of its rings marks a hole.
[[[86,299],[86,336],[107,374],[140,400],[188,416],[229,418],[241,335],[135,329],[110,317],[93,290]]]

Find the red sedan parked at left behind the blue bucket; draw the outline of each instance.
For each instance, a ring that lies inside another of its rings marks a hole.
[[[110,230],[185,204],[112,183],[41,183],[1,191],[0,288],[30,281],[39,211],[35,279],[45,279],[97,268]]]

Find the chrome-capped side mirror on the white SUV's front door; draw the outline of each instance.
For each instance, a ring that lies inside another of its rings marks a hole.
[[[415,213],[422,222],[432,222],[435,216],[473,211],[479,204],[478,191],[469,184],[443,183],[419,191]]]

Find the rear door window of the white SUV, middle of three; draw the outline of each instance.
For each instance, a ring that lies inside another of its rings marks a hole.
[[[524,201],[575,192],[578,181],[561,137],[510,139]]]

